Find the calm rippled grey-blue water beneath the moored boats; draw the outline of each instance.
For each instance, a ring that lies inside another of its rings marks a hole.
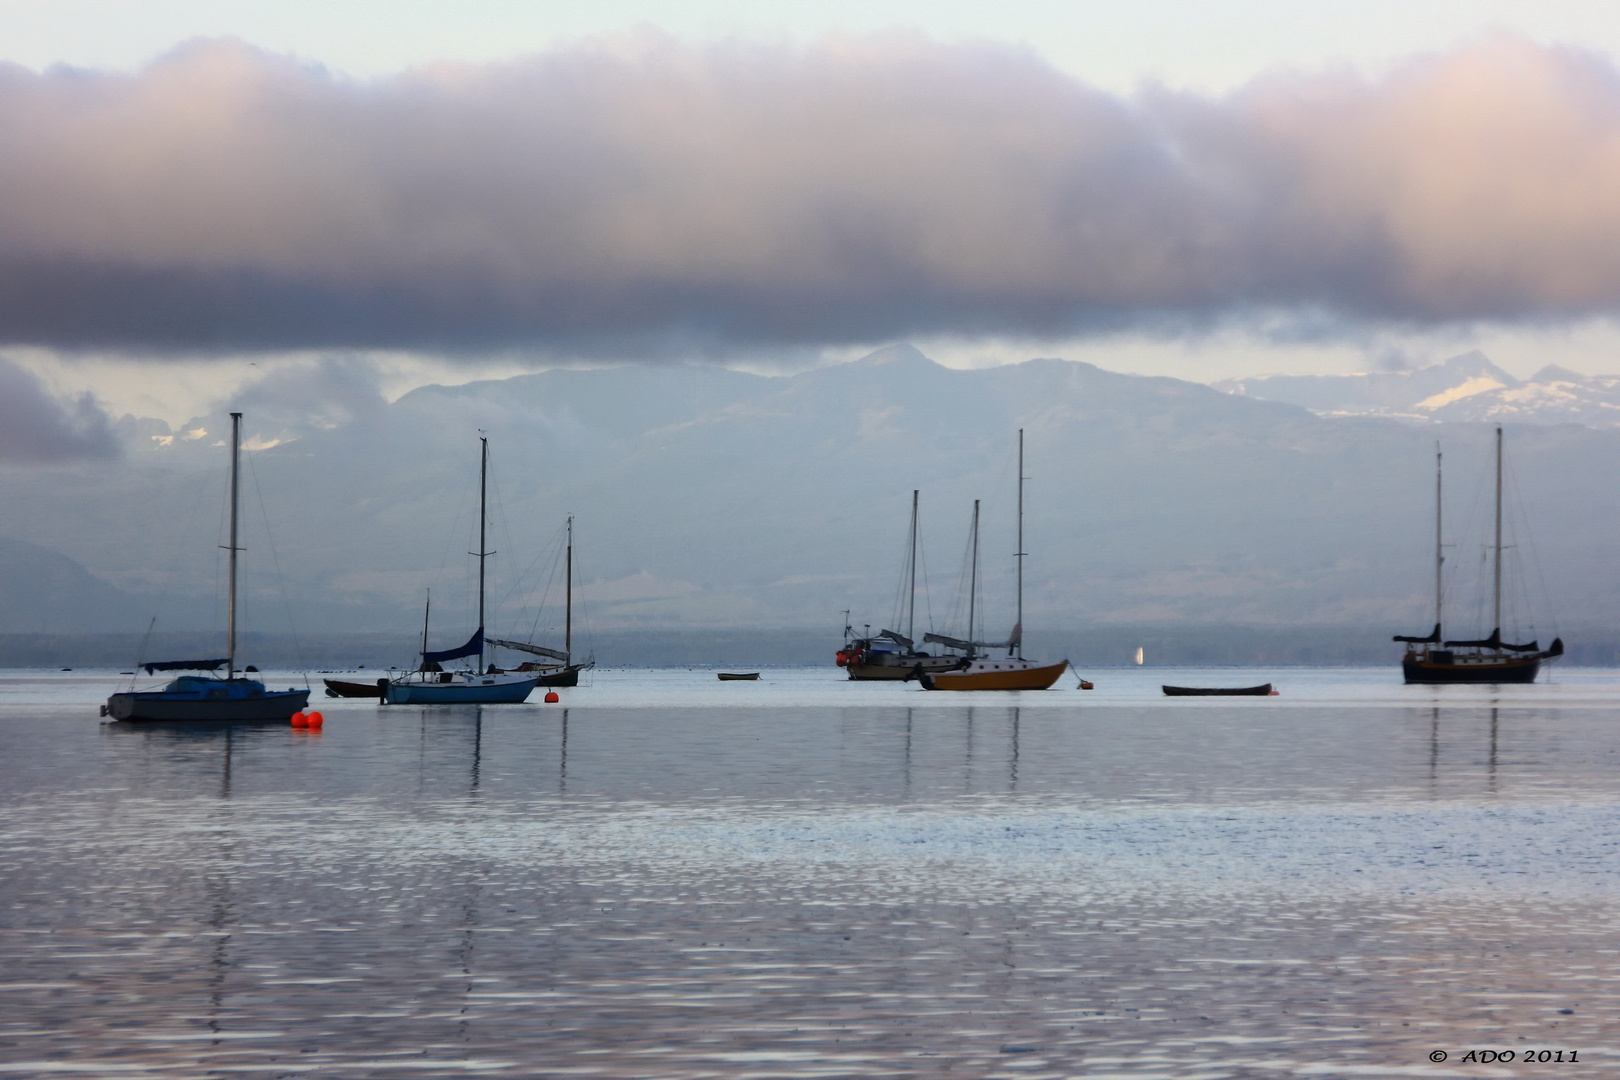
[[[1157,696],[1273,675],[604,670],[305,733],[0,674],[0,1074],[1620,1075],[1620,672]]]

